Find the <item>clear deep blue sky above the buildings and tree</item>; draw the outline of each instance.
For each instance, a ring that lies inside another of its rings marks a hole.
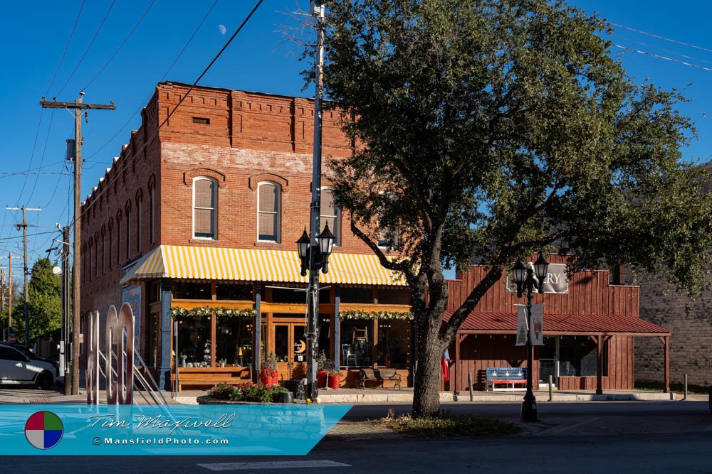
[[[62,109],[41,110],[38,101],[48,86],[51,84],[47,99],[57,97],[58,100],[72,101],[90,83],[85,91],[85,102],[108,103],[112,100],[116,104],[115,112],[90,112],[90,122],[83,125],[86,160],[83,195],[86,195],[103,176],[121,144],[127,141],[130,130],[139,126],[137,110],[145,105],[155,84],[164,76],[213,1],[155,0],[132,36],[91,83],[147,9],[150,0],[115,1],[103,27],[78,65],[111,4],[111,0],[86,1],[66,57],[52,83],[81,0],[0,2],[0,16],[5,19],[0,31],[5,71],[0,79],[3,82],[0,87],[0,130],[4,138],[0,153],[0,204],[3,205],[0,208],[0,255],[22,251],[21,232],[14,228],[14,223],[21,221],[21,213],[5,211],[4,205],[25,204],[43,209],[28,212],[28,221],[38,226],[28,229],[30,259],[46,255],[51,240],[58,237],[57,233],[52,233],[55,223],[66,225],[70,218],[70,181],[63,161],[65,140],[73,136],[73,119]],[[690,2],[684,8],[669,1],[577,0],[570,3],[590,13],[597,11],[609,21],[623,26],[712,50],[712,40],[706,33],[712,4],[707,2]],[[167,80],[193,82],[253,4],[252,0],[218,0],[167,75]],[[264,1],[201,85],[310,95],[310,90],[302,90],[299,72],[303,65],[298,63],[296,55],[291,54],[293,46],[281,45],[284,38],[278,31],[282,25],[295,23],[286,13],[295,11],[298,6],[307,9],[308,0]],[[221,25],[225,26],[226,34],[221,33]],[[617,28],[614,36],[608,38],[629,48],[712,69],[712,52],[708,50],[624,28]],[[712,129],[708,122],[712,119],[709,94],[712,72],[618,48],[612,48],[612,55],[622,57],[624,67],[636,80],[649,78],[665,89],[684,90],[692,102],[684,104],[681,109],[696,123],[699,134],[684,154],[686,159],[706,160],[712,154]],[[706,117],[708,113],[711,114],[709,118]],[[0,259],[0,264],[6,262],[6,259]]]

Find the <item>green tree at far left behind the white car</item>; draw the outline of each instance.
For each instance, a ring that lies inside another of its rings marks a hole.
[[[53,274],[52,268],[53,264],[46,258],[38,259],[32,266],[32,276],[28,284],[30,340],[48,337],[61,328],[62,278]],[[23,298],[18,298],[14,303],[12,327],[18,340],[24,342]]]

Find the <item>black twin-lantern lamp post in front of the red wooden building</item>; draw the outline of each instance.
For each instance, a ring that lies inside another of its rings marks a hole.
[[[523,291],[527,292],[527,393],[524,395],[524,402],[522,403],[522,421],[538,421],[537,411],[536,411],[536,397],[534,396],[534,391],[532,388],[532,367],[534,365],[533,361],[533,351],[532,351],[532,338],[531,338],[531,325],[532,325],[532,297],[534,289],[538,289],[539,293],[544,292],[544,279],[549,268],[549,262],[544,258],[544,254],[539,252],[539,257],[534,262],[534,269],[528,269],[521,260],[517,260],[514,265],[512,272],[514,274],[514,281],[517,284],[517,298],[521,298]],[[536,274],[536,279],[534,278]],[[537,282],[539,281],[539,283]]]

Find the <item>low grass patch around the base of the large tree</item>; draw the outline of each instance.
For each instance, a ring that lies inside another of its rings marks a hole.
[[[460,436],[508,436],[521,431],[509,421],[472,415],[452,415],[413,418],[409,414],[389,416],[383,422],[393,431],[421,438],[457,438]]]

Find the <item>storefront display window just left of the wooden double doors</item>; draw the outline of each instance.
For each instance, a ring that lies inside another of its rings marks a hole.
[[[252,362],[252,318],[218,318],[215,328],[216,362],[246,367]]]

